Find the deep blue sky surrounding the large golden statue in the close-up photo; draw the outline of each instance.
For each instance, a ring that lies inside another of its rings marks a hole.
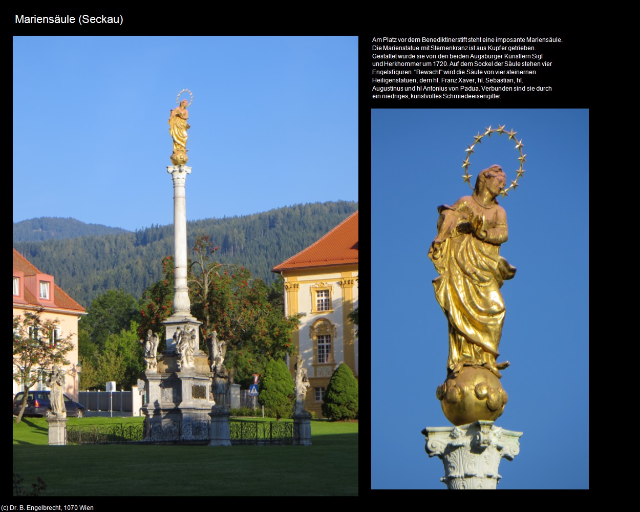
[[[427,253],[436,208],[471,193],[465,149],[506,125],[527,154],[518,188],[500,199],[518,271],[502,296],[499,360],[509,394],[502,428],[522,431],[502,460],[498,488],[589,486],[589,160],[587,110],[377,109],[372,111],[372,487],[444,489],[442,461],[420,431],[447,426],[435,397],[446,376],[447,321]],[[469,173],[491,164],[515,179],[515,143],[493,134]],[[375,378],[378,376],[378,378]]]

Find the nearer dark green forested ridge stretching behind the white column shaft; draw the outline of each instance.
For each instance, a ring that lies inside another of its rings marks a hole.
[[[187,223],[189,255],[196,235],[209,235],[220,247],[216,258],[249,269],[267,284],[271,269],[300,252],[358,209],[358,203],[339,201],[300,204],[268,212]],[[173,225],[136,232],[81,236],[13,246],[40,271],[84,307],[98,294],[122,288],[140,298],[159,280],[161,259],[173,254]]]

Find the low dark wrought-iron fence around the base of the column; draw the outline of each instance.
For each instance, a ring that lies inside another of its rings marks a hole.
[[[82,425],[67,429],[67,442],[108,443],[208,443],[210,421],[170,421],[161,423]],[[229,420],[232,445],[293,444],[292,422]]]

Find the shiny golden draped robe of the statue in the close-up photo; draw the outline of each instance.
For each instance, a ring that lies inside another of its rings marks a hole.
[[[449,322],[447,367],[456,364],[488,364],[495,367],[504,323],[500,287],[516,269],[500,257],[507,239],[506,213],[497,204],[483,207],[472,198],[460,198],[453,206],[440,206],[438,238],[429,258],[440,274],[433,280],[436,300]],[[486,237],[468,232],[468,218],[483,221]]]

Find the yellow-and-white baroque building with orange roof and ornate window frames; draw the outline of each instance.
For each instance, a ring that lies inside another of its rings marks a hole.
[[[306,408],[321,418],[333,371],[344,362],[358,378],[358,338],[348,317],[358,307],[358,212],[273,272],[284,278],[285,315],[307,314],[292,340],[308,370]]]

